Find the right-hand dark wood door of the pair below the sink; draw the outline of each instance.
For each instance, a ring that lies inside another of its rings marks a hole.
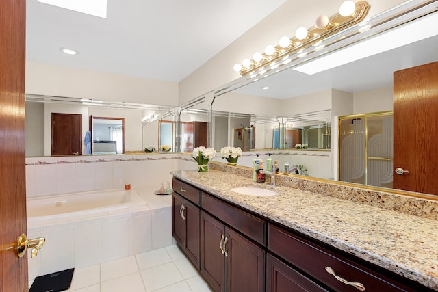
[[[226,231],[227,291],[265,291],[265,251],[235,230]]]

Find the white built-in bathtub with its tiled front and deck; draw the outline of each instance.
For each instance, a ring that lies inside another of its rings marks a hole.
[[[172,198],[159,186],[27,198],[27,237],[45,237],[29,256],[29,280],[175,244]]]

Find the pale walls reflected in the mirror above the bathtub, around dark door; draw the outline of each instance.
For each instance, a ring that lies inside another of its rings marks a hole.
[[[61,96],[40,96],[26,94],[26,156],[43,157],[51,155],[51,114],[81,115],[81,145],[79,154],[86,154],[86,133],[89,131],[89,116],[124,119],[123,140],[118,144],[119,152],[143,152],[145,145],[158,148],[157,120],[170,115],[172,107],[166,105],[147,105],[119,101],[95,101]],[[154,118],[144,125],[142,118],[153,114]],[[118,131],[118,130],[115,130]],[[115,133],[114,133],[115,135]],[[143,137],[144,136],[144,137]],[[105,134],[99,140],[112,140]],[[96,139],[94,139],[96,140]],[[121,150],[120,150],[121,147]],[[98,152],[101,152],[100,150]],[[103,152],[108,152],[107,149]],[[112,151],[111,151],[112,152]],[[96,154],[96,153],[94,153]]]

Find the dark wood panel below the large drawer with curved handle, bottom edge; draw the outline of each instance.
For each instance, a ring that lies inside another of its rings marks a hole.
[[[266,256],[266,292],[327,291],[277,258]]]

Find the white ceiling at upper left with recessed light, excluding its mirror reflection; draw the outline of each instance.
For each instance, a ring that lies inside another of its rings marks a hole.
[[[285,1],[107,0],[105,19],[27,0],[26,57],[179,82]]]

